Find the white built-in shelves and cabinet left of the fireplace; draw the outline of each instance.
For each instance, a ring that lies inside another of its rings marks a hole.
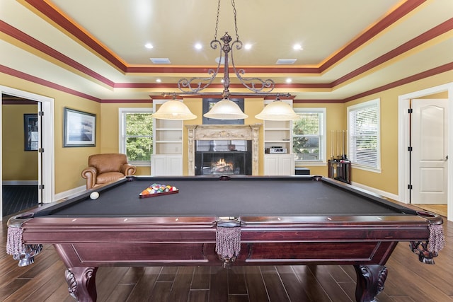
[[[154,112],[164,101],[153,100]],[[154,119],[151,175],[183,175],[183,121]]]

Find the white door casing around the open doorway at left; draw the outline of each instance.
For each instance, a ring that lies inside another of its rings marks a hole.
[[[38,142],[40,148],[42,149],[39,153],[38,161],[38,185],[41,185],[40,194],[38,195],[38,200],[42,203],[53,202],[55,199],[55,127],[54,127],[54,99],[48,98],[43,95],[38,95],[35,93],[28,93],[26,91],[19,91],[15,88],[10,88],[6,86],[0,86],[0,96],[1,95],[12,95],[13,97],[23,98],[26,100],[34,101],[38,104],[38,111],[41,111],[42,114],[38,115],[38,124],[40,127],[40,142]],[[1,106],[0,106],[1,113]],[[1,115],[0,115],[1,116]],[[39,122],[40,119],[40,122]],[[3,119],[2,119],[3,120]],[[0,123],[1,132],[4,131],[6,126],[3,123]],[[0,132],[0,133],[1,133]],[[21,136],[22,137],[22,136]],[[22,141],[22,139],[21,139]],[[3,136],[0,144],[0,152],[3,149]],[[3,158],[3,154],[1,154]],[[3,175],[4,163],[1,163],[1,174]],[[1,178],[3,182],[3,178]],[[0,191],[0,197],[3,200],[3,194]],[[0,203],[0,213],[3,213],[3,205]],[[3,214],[0,216],[0,220],[3,220]]]

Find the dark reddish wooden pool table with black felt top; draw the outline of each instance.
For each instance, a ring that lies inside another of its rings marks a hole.
[[[140,198],[153,183],[177,193]],[[8,221],[7,252],[28,265],[54,245],[79,301],[96,301],[103,266],[310,264],[353,265],[356,300],[373,301],[399,241],[426,263],[442,248],[437,214],[321,176],[137,176],[93,191]]]

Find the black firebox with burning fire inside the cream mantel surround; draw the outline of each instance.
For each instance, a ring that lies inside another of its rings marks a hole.
[[[251,141],[195,141],[195,175],[251,175]]]

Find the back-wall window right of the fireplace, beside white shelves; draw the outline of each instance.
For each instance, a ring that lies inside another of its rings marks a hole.
[[[294,108],[292,151],[296,163],[326,161],[326,108]]]

